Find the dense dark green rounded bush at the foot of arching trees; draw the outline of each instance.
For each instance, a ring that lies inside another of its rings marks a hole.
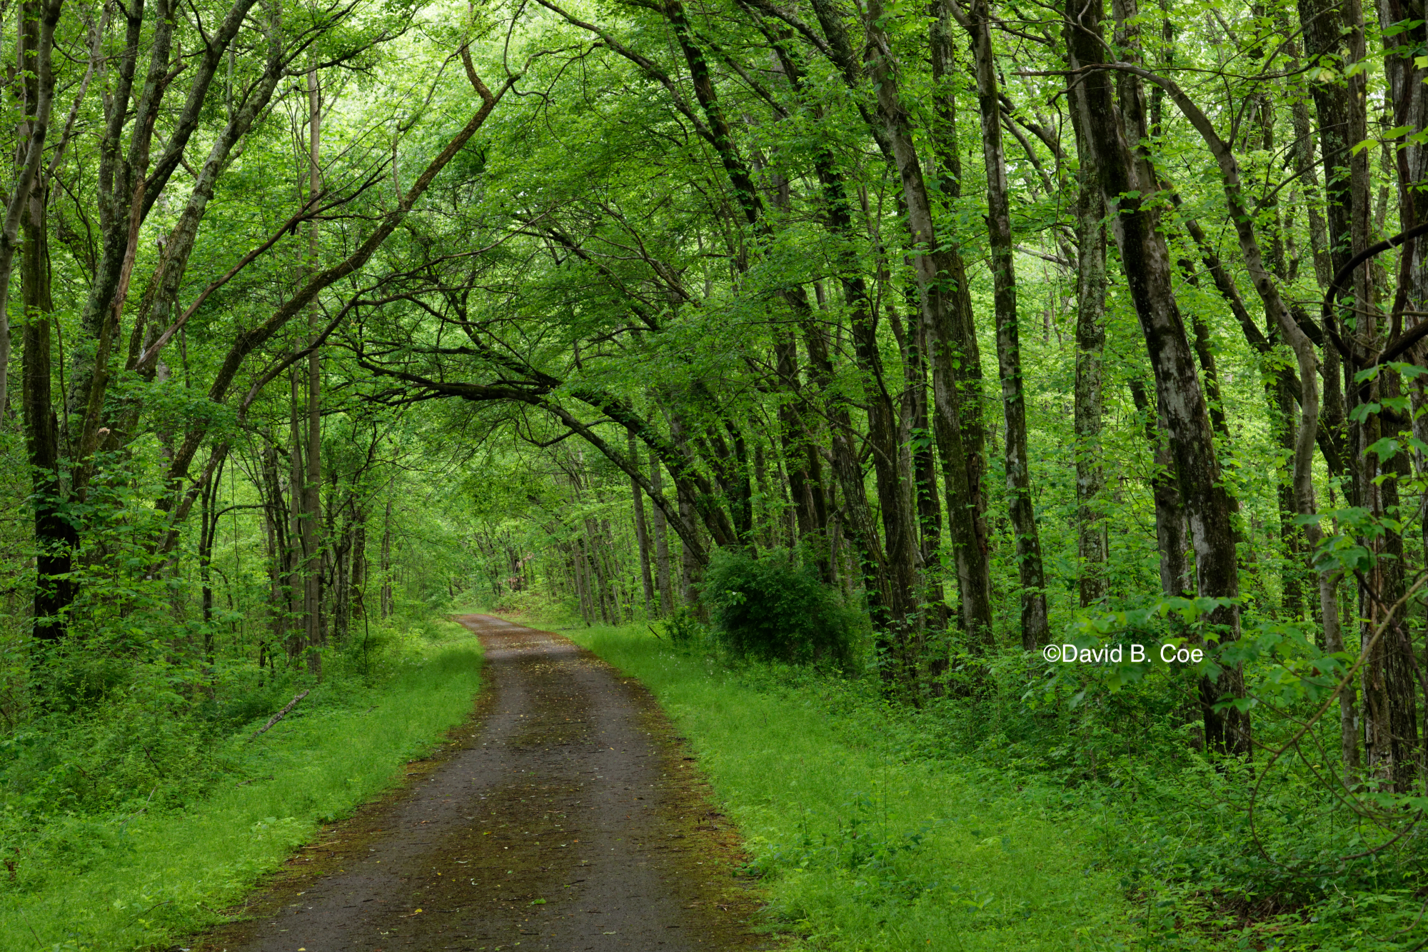
[[[721,549],[704,576],[714,635],[734,655],[788,663],[853,659],[860,616],[785,550]]]

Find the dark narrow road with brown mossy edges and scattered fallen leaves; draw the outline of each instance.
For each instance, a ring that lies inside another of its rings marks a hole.
[[[197,952],[770,948],[738,841],[650,693],[488,615],[471,720]]]

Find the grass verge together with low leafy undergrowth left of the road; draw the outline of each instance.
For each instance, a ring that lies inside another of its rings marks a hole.
[[[220,921],[471,710],[480,645],[413,616],[330,650],[320,683],[233,662],[190,683],[161,656],[129,670],[0,739],[0,949],[156,948]]]

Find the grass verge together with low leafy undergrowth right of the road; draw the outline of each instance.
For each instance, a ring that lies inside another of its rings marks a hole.
[[[1187,726],[1188,672],[1071,703],[1030,690],[1038,666],[1007,652],[990,690],[914,708],[873,676],[677,646],[660,626],[573,636],[660,696],[775,915],[815,948],[1409,952],[1428,938],[1422,841],[1355,856],[1382,836],[1292,766],[1261,783],[1251,828],[1247,773],[1208,762]],[[1269,745],[1288,730],[1261,725]],[[988,916],[1007,945],[978,945]]]

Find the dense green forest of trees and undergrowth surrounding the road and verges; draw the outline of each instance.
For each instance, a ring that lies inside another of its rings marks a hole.
[[[207,922],[23,912],[457,606],[1100,818],[1114,948],[1428,945],[1422,4],[0,24],[13,948]],[[898,849],[830,882],[931,902]]]

